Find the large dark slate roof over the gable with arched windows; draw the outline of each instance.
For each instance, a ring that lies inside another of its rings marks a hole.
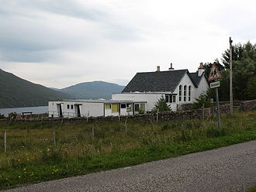
[[[189,70],[166,70],[156,72],[137,73],[133,79],[126,85],[122,93],[125,92],[165,92],[175,91],[178,83],[185,74],[188,74],[195,87],[195,81],[191,77]]]

